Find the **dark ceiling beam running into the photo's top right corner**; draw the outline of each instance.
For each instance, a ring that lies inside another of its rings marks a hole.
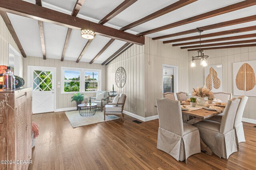
[[[206,12],[204,14],[200,14],[200,15],[193,16],[193,17],[190,17],[190,18],[186,18],[184,20],[180,20],[180,21],[177,21],[177,22],[174,22],[174,23],[170,23],[170,24],[167,24],[167,25],[155,28],[155,29],[150,29],[148,31],[138,33],[137,35],[147,35],[147,34],[150,34],[150,33],[163,31],[163,30],[166,30],[166,29],[178,27],[180,25],[185,25],[185,24],[192,23],[192,22],[195,22],[195,21],[204,20],[206,18],[211,18],[211,17],[218,16],[218,15],[221,15],[221,14],[226,14],[228,12],[240,10],[242,8],[246,8],[246,7],[254,6],[254,5],[256,5],[255,0],[245,0],[245,1],[242,1],[242,2],[238,2],[236,4],[225,6],[223,8],[212,10],[210,12]]]

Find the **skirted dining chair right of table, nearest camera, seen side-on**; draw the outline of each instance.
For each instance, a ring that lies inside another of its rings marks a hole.
[[[200,138],[220,158],[228,159],[232,153],[237,152],[234,121],[239,102],[237,98],[228,100],[221,123],[202,120],[193,124],[199,129]]]

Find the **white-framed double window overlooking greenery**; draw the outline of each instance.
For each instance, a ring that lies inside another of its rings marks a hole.
[[[96,92],[100,89],[101,70],[61,67],[61,93]]]

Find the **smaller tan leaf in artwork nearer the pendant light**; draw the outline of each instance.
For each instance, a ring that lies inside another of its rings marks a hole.
[[[206,87],[210,90],[212,90],[212,86],[215,89],[220,88],[220,79],[218,78],[217,72],[214,70],[214,68],[210,68],[209,74],[206,77]]]

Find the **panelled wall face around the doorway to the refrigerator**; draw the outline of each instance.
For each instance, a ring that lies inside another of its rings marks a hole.
[[[150,117],[157,115],[156,98],[162,98],[162,64],[178,66],[178,92],[188,91],[188,51],[146,37],[144,62],[145,117]]]

